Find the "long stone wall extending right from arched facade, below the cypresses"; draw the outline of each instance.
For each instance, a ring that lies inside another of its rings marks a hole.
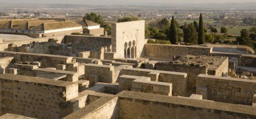
[[[145,56],[172,59],[174,56],[205,55],[212,53],[212,47],[187,45],[145,44]]]

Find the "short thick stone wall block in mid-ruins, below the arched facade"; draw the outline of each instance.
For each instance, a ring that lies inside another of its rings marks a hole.
[[[98,76],[98,81],[103,83],[116,82],[114,79],[114,66],[104,66],[98,64],[84,64],[84,78],[90,80],[90,76]]]

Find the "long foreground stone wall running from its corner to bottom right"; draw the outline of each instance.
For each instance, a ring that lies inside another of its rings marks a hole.
[[[256,118],[256,108],[139,92],[119,94],[118,118]]]

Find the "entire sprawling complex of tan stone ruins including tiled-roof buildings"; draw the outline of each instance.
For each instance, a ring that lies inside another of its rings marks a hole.
[[[256,118],[256,55],[148,44],[145,21],[113,23],[111,37],[77,23],[0,21],[37,37],[0,41],[0,118]]]

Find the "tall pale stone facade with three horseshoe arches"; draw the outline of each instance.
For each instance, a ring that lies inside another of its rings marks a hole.
[[[112,50],[115,59],[140,57],[143,55],[145,39],[145,21],[113,23]]]

